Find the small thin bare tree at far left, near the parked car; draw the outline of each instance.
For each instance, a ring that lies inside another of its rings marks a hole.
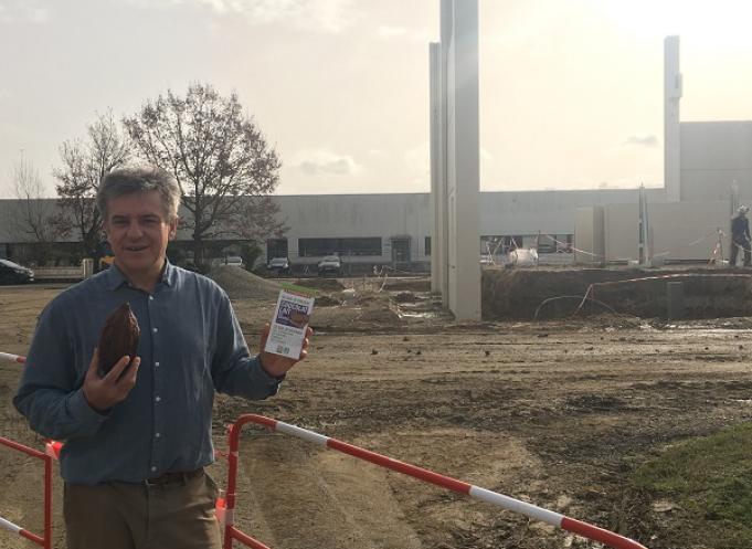
[[[35,244],[31,258],[44,264],[54,242],[64,233],[56,222],[60,215],[56,201],[45,197],[42,178],[31,161],[14,162],[11,178],[19,202],[9,221],[14,231]]]

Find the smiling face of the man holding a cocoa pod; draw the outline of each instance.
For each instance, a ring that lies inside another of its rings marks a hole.
[[[167,219],[157,191],[124,194],[107,203],[105,233],[115,263],[126,274],[158,274],[177,228],[178,220]]]

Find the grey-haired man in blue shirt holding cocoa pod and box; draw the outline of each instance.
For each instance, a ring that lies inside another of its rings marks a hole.
[[[167,261],[179,200],[161,170],[104,179],[97,207],[114,266],[45,307],[13,399],[34,431],[65,441],[68,549],[219,549],[218,490],[203,471],[214,392],[265,399],[297,362],[251,357],[226,294]],[[138,356],[102,378],[95,347],[124,302],[141,329]],[[267,336],[268,326],[261,349]]]

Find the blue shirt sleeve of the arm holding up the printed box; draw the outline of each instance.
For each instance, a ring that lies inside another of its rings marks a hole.
[[[251,357],[230,299],[223,292],[219,299],[212,358],[214,388],[233,397],[252,400],[263,400],[276,394],[282,378],[266,373],[258,356]]]

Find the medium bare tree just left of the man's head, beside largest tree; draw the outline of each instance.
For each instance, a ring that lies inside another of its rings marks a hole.
[[[56,190],[64,210],[60,221],[78,233],[84,253],[91,254],[102,239],[102,220],[95,201],[99,182],[129,161],[133,145],[118,128],[112,110],[97,114],[86,133],[86,140],[63,142],[60,147],[63,166],[53,173],[60,181]]]

